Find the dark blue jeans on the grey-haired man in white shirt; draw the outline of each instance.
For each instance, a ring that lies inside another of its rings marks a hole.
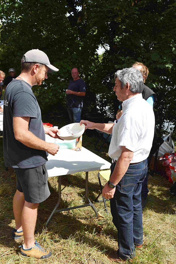
[[[115,163],[111,165],[111,174]],[[143,243],[141,187],[147,173],[147,159],[131,164],[116,186],[114,197],[110,199],[112,221],[118,231],[117,254],[120,258],[133,258],[134,245]]]

